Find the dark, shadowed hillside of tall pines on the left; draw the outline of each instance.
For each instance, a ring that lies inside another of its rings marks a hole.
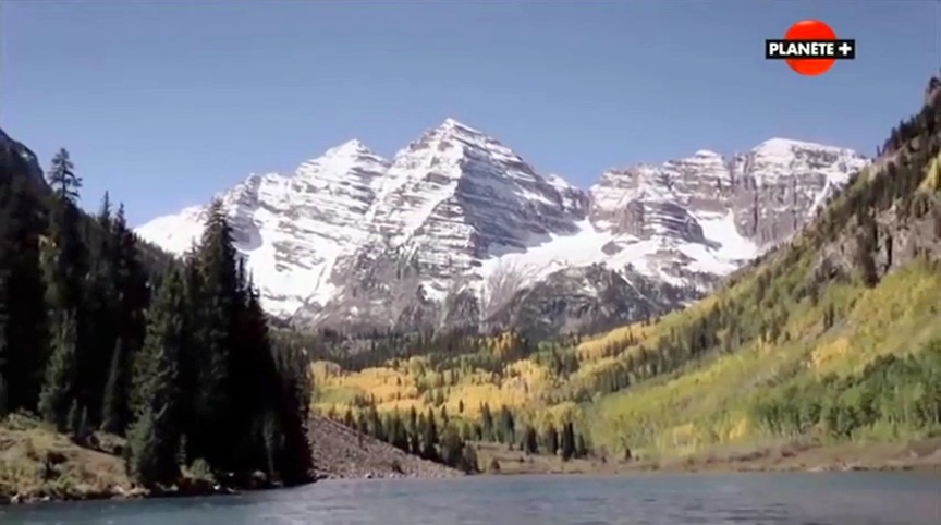
[[[308,480],[306,365],[272,347],[223,216],[210,212],[201,242],[174,261],[136,239],[107,195],[95,217],[78,208],[65,150],[48,183],[30,160],[2,143],[0,422],[38,417],[91,449],[126,438],[126,472],[150,489],[194,477],[241,486],[258,473]],[[2,457],[0,495],[62,476],[51,455],[36,473]]]

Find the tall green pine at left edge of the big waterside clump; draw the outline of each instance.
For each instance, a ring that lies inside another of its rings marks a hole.
[[[169,485],[179,476],[175,382],[184,328],[182,306],[182,279],[170,270],[148,312],[147,335],[133,377],[137,405],[127,431],[127,474],[148,488]]]

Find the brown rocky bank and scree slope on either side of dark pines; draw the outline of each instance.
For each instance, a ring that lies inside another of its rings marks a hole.
[[[120,441],[108,437],[103,441]],[[439,465],[321,416],[310,420],[315,476],[323,479],[445,478],[464,473]],[[233,495],[277,488],[260,476],[244,486],[187,476],[166,490],[136,487],[111,447],[82,447],[39,422],[0,426],[0,505],[44,501],[126,500]]]

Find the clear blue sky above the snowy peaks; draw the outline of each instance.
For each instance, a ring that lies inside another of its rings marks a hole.
[[[856,38],[820,77],[766,62],[803,19]],[[138,224],[356,137],[454,117],[583,187],[771,136],[871,154],[941,66],[937,0],[54,1],[0,5],[0,126]]]

